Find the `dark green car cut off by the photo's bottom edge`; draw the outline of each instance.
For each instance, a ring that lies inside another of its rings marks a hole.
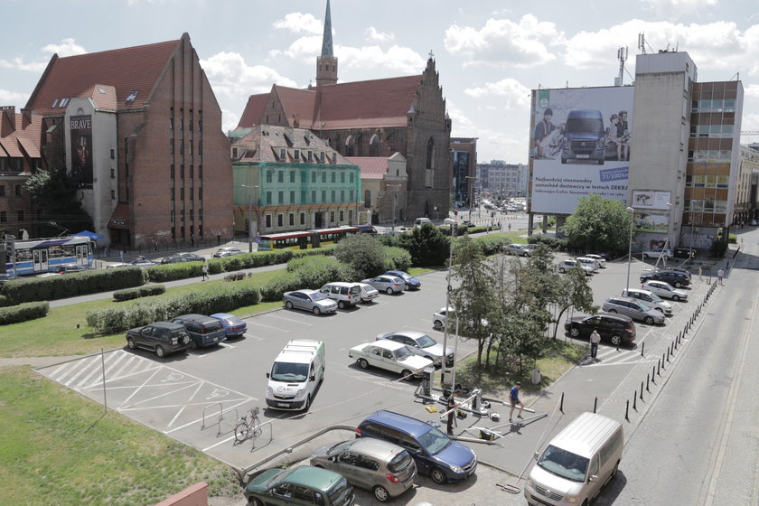
[[[253,506],[317,504],[352,506],[353,487],[338,473],[310,465],[289,469],[267,469],[245,487],[245,498]]]

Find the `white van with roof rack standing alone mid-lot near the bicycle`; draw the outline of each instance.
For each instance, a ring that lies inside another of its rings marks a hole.
[[[279,352],[267,372],[267,406],[308,409],[316,387],[324,379],[324,342],[294,339]]]

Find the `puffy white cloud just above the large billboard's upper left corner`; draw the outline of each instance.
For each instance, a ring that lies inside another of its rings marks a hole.
[[[453,25],[445,31],[445,49],[466,61],[464,65],[534,67],[557,58],[564,33],[555,23],[541,22],[532,14],[519,23],[488,19],[483,28]]]

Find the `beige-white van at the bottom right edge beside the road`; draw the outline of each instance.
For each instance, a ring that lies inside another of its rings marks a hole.
[[[530,506],[587,505],[614,478],[622,459],[622,424],[583,413],[554,437],[529,472],[524,497]]]

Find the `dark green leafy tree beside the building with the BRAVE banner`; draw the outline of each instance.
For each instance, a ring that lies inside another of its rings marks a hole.
[[[41,237],[57,236],[62,229],[72,233],[92,230],[92,218],[81,208],[77,188],[71,183],[65,165],[33,173],[24,184],[24,189],[29,193],[33,206],[40,211],[42,223],[38,231]]]

